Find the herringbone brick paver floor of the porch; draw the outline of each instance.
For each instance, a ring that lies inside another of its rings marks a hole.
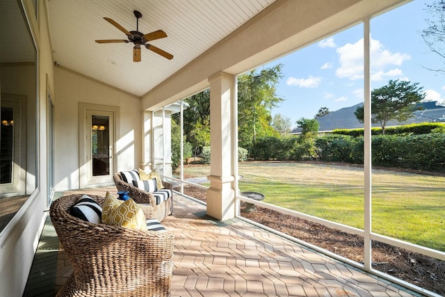
[[[114,187],[56,193],[104,195]],[[420,296],[240,219],[220,222],[175,194],[172,296]],[[24,296],[55,296],[71,274],[47,218]]]

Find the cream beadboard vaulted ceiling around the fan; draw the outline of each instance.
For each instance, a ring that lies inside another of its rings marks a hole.
[[[275,0],[49,0],[49,32],[54,61],[137,96],[143,96],[215,45]],[[133,10],[143,16],[138,29],[163,30],[167,38],[149,44],[172,54],[168,60],[141,48],[133,62],[133,43],[99,44],[95,40],[127,39],[104,17],[136,31]]]

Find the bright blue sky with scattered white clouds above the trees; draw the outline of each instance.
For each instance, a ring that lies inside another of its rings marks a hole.
[[[431,53],[421,38],[428,18],[426,3],[414,0],[371,19],[371,90],[389,79],[418,82],[429,101],[445,102],[445,75],[427,70],[444,61]],[[284,77],[277,95],[285,101],[273,109],[289,118],[293,127],[300,118],[314,118],[318,109],[330,111],[363,102],[363,25],[332,35],[284,56]]]

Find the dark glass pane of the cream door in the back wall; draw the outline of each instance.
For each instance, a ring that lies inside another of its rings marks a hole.
[[[109,175],[110,172],[110,140],[108,116],[91,116],[91,155],[92,176]]]

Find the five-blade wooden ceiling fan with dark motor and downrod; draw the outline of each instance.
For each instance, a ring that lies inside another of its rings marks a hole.
[[[140,46],[144,46],[146,49],[149,49],[150,51],[154,51],[156,54],[159,54],[163,56],[164,58],[168,58],[171,60],[173,58],[172,54],[169,54],[167,51],[163,51],[162,49],[159,49],[159,47],[155,47],[154,45],[150,45],[147,42],[156,40],[159,38],[165,38],[167,37],[167,34],[162,31],[153,31],[152,33],[143,34],[139,32],[139,19],[142,17],[142,13],[138,12],[138,10],[133,11],[134,16],[136,17],[136,31],[127,31],[127,29],[124,29],[124,27],[120,26],[118,22],[115,22],[115,20],[110,19],[109,17],[104,17],[104,19],[118,28],[120,31],[124,32],[125,35],[127,35],[128,40],[125,39],[106,39],[106,40],[96,40],[97,43],[114,43],[114,42],[133,42],[133,62],[140,62]]]

